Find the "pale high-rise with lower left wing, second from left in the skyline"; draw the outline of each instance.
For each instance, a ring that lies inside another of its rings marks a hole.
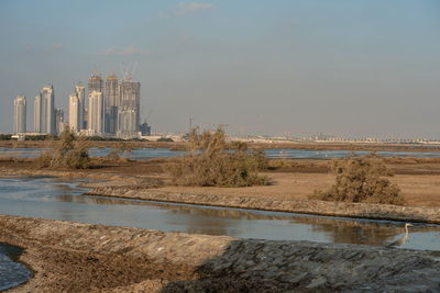
[[[55,93],[53,86],[46,86],[40,94],[40,133],[55,134]],[[35,99],[37,105],[37,99]],[[37,111],[35,106],[35,122],[37,123]],[[35,129],[37,125],[35,124]]]

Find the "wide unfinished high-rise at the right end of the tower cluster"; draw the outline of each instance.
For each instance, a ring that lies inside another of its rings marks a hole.
[[[135,137],[139,135],[141,82],[124,80],[119,90],[118,136]]]

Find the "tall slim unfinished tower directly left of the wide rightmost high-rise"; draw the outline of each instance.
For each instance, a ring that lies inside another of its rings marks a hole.
[[[119,84],[114,75],[106,78],[105,92],[105,131],[108,134],[117,134],[118,131],[118,108],[119,108]]]

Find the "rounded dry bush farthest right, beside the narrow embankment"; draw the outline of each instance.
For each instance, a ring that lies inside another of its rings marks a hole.
[[[337,174],[336,183],[329,190],[316,191],[310,199],[405,204],[399,188],[388,179],[394,176],[393,172],[386,168],[384,160],[375,154],[334,160],[332,171]]]

